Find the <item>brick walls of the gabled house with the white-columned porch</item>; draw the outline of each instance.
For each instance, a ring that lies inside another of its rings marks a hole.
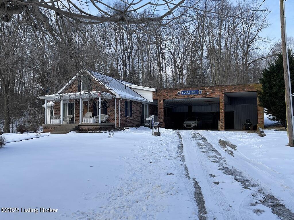
[[[143,97],[140,96],[140,94],[135,94],[136,97],[134,98],[134,91],[131,90],[132,92],[132,96],[130,96],[131,98],[117,98],[115,94],[113,94],[113,91],[111,91],[111,89],[107,89],[105,87],[105,85],[103,83],[101,83],[100,81],[98,82],[95,77],[89,77],[88,79],[90,79],[91,81],[91,92],[105,92],[108,94],[111,94],[112,97],[111,99],[109,98],[101,98],[101,100],[103,101],[103,104],[105,104],[107,107],[105,110],[107,110],[107,115],[108,115],[108,119],[107,119],[107,123],[112,123],[115,127],[138,127],[141,126],[141,115],[142,115],[142,104],[149,104],[150,102],[147,101],[146,99],[144,99]],[[69,85],[66,86],[63,91],[59,91],[62,94],[78,94],[80,91],[78,89],[78,84],[81,82],[79,81],[81,79],[78,79],[78,77],[76,77],[75,79],[72,79],[72,81],[70,81]],[[115,79],[117,80],[117,79]],[[122,81],[118,81],[118,83],[121,83]],[[130,88],[127,88],[126,85],[124,85],[126,89],[126,91],[130,90]],[[128,90],[127,90],[128,89]],[[124,93],[126,93],[126,91],[123,91]],[[130,92],[130,91],[129,91]],[[60,98],[61,99],[61,98]],[[136,99],[141,99],[142,101],[136,101]],[[54,101],[54,100],[52,100]],[[129,113],[129,115],[127,116],[125,114],[125,101],[129,101],[127,103],[129,103],[129,105],[131,105],[129,108],[131,109],[131,112]],[[69,102],[74,102],[74,123],[79,124],[80,123],[80,118],[79,118],[79,114],[80,114],[80,100],[79,99],[67,99],[66,101],[64,101],[64,103],[69,103]],[[55,115],[61,115],[61,101],[54,101],[54,114]],[[88,106],[86,106],[88,104]],[[83,99],[83,108],[88,108],[89,112],[92,112],[92,114],[94,113],[94,106],[95,105],[95,110],[96,110],[96,104],[98,105],[98,98],[88,98],[88,99]],[[115,109],[115,104],[116,104],[116,109]],[[120,106],[118,106],[120,105]],[[150,105],[151,106],[151,105]],[[157,106],[152,106],[151,112],[155,113]],[[102,111],[102,110],[101,110]],[[120,112],[120,114],[119,114]],[[83,114],[85,114],[85,111],[83,111]],[[103,114],[103,113],[101,113]],[[157,113],[156,113],[157,114]],[[96,114],[95,114],[96,115]],[[116,115],[116,119],[115,119],[115,115]],[[93,114],[94,116],[94,114]],[[47,128],[46,125],[43,125],[44,130],[46,131],[51,131],[54,130],[56,127],[51,125],[50,127]],[[45,128],[46,127],[46,128]],[[82,126],[79,125],[80,128],[90,128],[89,126]]]

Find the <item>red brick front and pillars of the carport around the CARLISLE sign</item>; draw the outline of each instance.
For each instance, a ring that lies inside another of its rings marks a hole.
[[[181,95],[177,94],[182,90],[198,90],[202,89],[202,94]],[[206,86],[206,87],[185,87],[185,88],[170,88],[170,89],[156,89],[153,92],[153,99],[158,100],[158,121],[164,122],[164,106],[165,99],[179,99],[179,98],[211,98],[220,97],[220,130],[225,129],[224,121],[224,93],[225,92],[256,92],[261,89],[261,84],[244,84],[244,85],[222,85],[222,86]],[[208,93],[208,94],[207,94]],[[164,126],[164,123],[163,123]],[[263,107],[258,105],[258,126],[263,127]]]

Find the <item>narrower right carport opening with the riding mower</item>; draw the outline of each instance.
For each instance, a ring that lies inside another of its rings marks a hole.
[[[225,99],[225,129],[243,129],[246,119],[250,119],[253,130],[258,123],[257,92],[227,92]]]

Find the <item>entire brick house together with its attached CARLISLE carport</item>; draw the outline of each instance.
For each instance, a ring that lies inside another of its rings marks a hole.
[[[204,129],[242,129],[247,119],[255,129],[263,128],[259,89],[260,84],[155,89],[83,70],[57,94],[40,97],[46,100],[43,128],[67,133],[137,127],[150,124],[145,119],[152,114],[165,128],[182,129],[191,116],[200,117]]]

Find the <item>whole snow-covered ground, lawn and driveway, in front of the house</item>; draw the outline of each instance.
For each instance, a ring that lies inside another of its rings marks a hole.
[[[131,128],[7,143],[0,208],[58,210],[0,219],[294,219],[294,148],[284,131],[265,134]]]

